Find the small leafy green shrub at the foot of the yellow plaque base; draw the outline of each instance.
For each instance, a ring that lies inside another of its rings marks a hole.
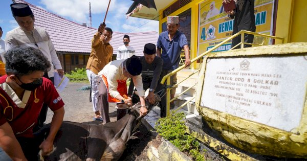
[[[168,140],[180,151],[188,153],[195,160],[204,160],[205,157],[200,151],[200,143],[186,133],[187,126],[184,124],[184,113],[172,113],[170,116],[160,118],[156,122],[157,132]]]

